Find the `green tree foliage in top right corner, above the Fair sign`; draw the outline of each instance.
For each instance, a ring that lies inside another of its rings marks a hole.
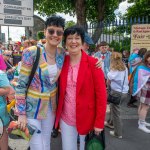
[[[131,17],[150,17],[150,1],[149,0],[128,0],[129,3],[134,3],[127,9],[125,16]]]

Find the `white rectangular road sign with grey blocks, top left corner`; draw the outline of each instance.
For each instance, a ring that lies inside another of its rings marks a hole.
[[[0,25],[33,26],[33,0],[0,0]]]

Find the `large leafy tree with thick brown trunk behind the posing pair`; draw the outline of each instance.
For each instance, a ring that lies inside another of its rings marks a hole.
[[[87,21],[99,22],[113,20],[114,10],[122,0],[34,0],[34,8],[40,14],[69,13],[77,16],[77,24],[86,28]],[[87,29],[87,28],[86,28]],[[101,29],[96,28],[93,40],[96,43]]]

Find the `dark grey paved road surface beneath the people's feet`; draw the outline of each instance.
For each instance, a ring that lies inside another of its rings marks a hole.
[[[148,120],[150,122],[150,119]],[[123,139],[109,135],[106,129],[106,150],[150,150],[150,134],[137,128],[137,120],[123,120]],[[11,139],[9,145],[13,150],[26,150],[27,142],[23,139]],[[62,150],[61,137],[52,139],[52,150]]]

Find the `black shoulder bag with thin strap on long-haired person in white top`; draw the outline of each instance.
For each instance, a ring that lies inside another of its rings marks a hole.
[[[121,103],[121,97],[122,97],[122,91],[123,91],[123,86],[124,86],[124,82],[125,82],[125,76],[126,76],[126,71],[125,71],[125,75],[124,75],[124,80],[123,80],[121,92],[113,91],[112,89],[108,90],[107,101],[109,103],[113,103],[115,105],[119,105]]]

